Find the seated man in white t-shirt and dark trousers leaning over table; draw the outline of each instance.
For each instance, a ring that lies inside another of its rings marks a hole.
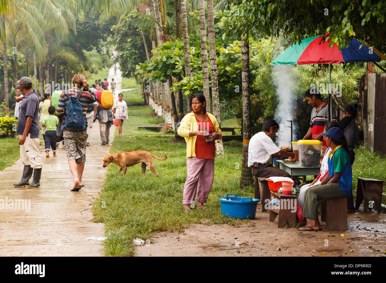
[[[273,142],[272,138],[278,129],[279,124],[273,119],[268,119],[264,122],[261,132],[255,134],[249,141],[248,167],[252,167],[252,174],[255,176],[255,190],[259,189],[259,182],[257,181],[259,177],[289,177],[287,172],[272,166],[272,157],[291,157],[294,160],[299,158],[298,154],[284,151]]]

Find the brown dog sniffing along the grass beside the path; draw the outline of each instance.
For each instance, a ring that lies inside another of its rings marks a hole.
[[[158,160],[166,160],[168,158],[168,156],[166,156],[166,158],[159,158],[158,156],[155,156],[150,152],[144,151],[144,150],[121,152],[121,153],[106,155],[103,158],[103,167],[106,167],[108,164],[113,162],[114,164],[117,164],[118,166],[120,166],[118,173],[120,171],[123,171],[123,174],[125,175],[127,167],[130,167],[142,162],[142,175],[146,174],[146,166],[149,166],[151,172],[153,172],[153,174],[156,175],[156,177],[158,177],[158,174],[154,169],[153,157]]]

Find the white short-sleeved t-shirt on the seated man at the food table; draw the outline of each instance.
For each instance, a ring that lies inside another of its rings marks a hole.
[[[249,141],[248,146],[248,167],[252,167],[254,162],[271,162],[271,155],[279,152],[273,140],[265,132],[258,132]]]

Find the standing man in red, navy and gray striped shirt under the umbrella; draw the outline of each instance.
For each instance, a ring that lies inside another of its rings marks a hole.
[[[313,93],[312,89],[307,90],[304,93],[308,104],[312,105],[310,129],[303,139],[315,139],[323,141],[322,133],[324,125],[328,122],[328,105],[326,101],[322,100],[322,97],[318,93]],[[332,111],[331,121],[336,122],[335,111]],[[323,141],[323,146],[327,146]]]

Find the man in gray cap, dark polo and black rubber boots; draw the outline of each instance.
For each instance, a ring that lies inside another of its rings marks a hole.
[[[14,187],[39,188],[43,166],[39,142],[39,99],[32,89],[32,80],[29,77],[22,77],[19,84],[24,96],[15,99],[16,102],[22,100],[16,133],[20,135],[20,159],[24,164],[24,171],[21,181],[14,184]],[[34,179],[30,184],[33,170]]]

